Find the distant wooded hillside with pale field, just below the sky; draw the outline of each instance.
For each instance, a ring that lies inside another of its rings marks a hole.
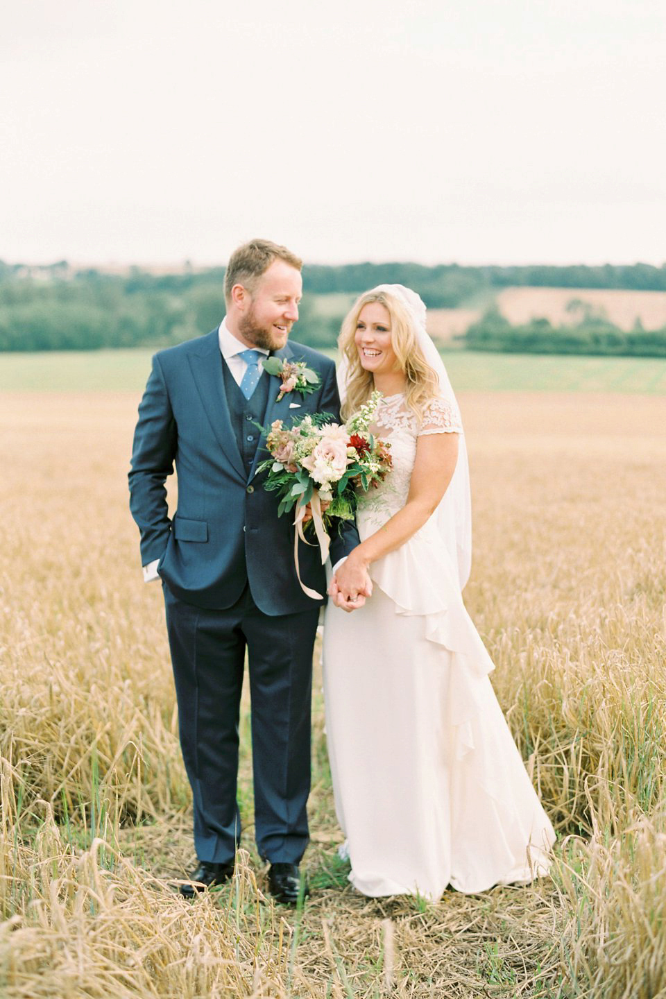
[[[220,322],[224,273],[222,267],[189,265],[173,272],[137,267],[105,271],[67,261],[42,267],[0,262],[0,351],[180,343]],[[488,306],[496,306],[509,325],[527,322],[511,319],[516,309],[527,310],[529,321],[550,317],[556,326],[575,325],[591,315],[595,322],[607,320],[620,329],[632,328],[637,319],[646,329],[666,324],[666,266],[306,265],[298,339],[313,347],[333,347],[354,295],[379,283],[404,284],[418,292],[429,308],[430,331],[441,342],[463,335]],[[494,323],[493,337],[496,330]]]

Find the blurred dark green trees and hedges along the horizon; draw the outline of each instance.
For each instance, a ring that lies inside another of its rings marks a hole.
[[[94,269],[75,271],[66,261],[42,268],[0,261],[0,351],[158,348],[180,343],[220,323],[225,313],[224,273],[224,268],[206,271],[186,268],[181,273],[155,275],[132,268],[118,275]],[[358,294],[379,283],[407,285],[418,292],[428,307],[441,308],[467,303],[488,290],[516,285],[666,291],[666,265],[661,268],[647,264],[626,267],[307,265],[298,339],[313,347],[332,347],[341,316],[320,315],[317,296],[333,292]],[[551,344],[552,350],[551,335],[558,350],[574,340],[582,343],[585,337],[588,346],[616,345],[620,335],[626,344],[631,344],[631,351],[642,349],[641,345],[657,350],[650,339],[653,335],[645,331],[636,331],[633,339],[627,339],[628,335],[616,328],[608,329],[603,336],[600,330],[594,335],[590,332],[589,337],[587,334],[583,337],[579,331],[576,340],[577,335],[570,327],[553,332],[545,331],[542,326],[534,327],[533,323],[529,329],[519,328],[519,332],[509,336],[505,328],[501,332],[501,324],[492,316],[484,317],[480,326],[475,326],[477,329],[472,328],[463,346],[476,350],[480,348],[475,345],[481,341],[486,344],[484,350],[507,349],[492,346],[500,343],[523,343],[526,350],[535,349],[528,346],[532,343],[542,345],[544,350]]]

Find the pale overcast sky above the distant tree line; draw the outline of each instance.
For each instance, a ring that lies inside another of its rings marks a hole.
[[[0,259],[666,259],[663,0],[21,0]]]

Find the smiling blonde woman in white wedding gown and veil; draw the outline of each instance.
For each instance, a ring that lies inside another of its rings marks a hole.
[[[366,292],[342,324],[340,350],[343,416],[381,392],[372,432],[390,442],[393,463],[358,498],[360,544],[335,567],[325,619],[327,733],[349,880],[365,895],[431,899],[448,884],[473,893],[529,881],[547,872],[555,834],[462,602],[467,457],[425,306],[402,285]]]

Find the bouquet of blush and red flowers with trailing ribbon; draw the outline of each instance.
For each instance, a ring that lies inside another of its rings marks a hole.
[[[294,553],[298,574],[299,537],[310,543],[304,536],[308,504],[324,563],[331,544],[327,528],[333,517],[352,520],[356,492],[366,493],[378,486],[390,471],[390,445],[368,429],[380,399],[381,393],[372,393],[366,405],[343,426],[332,423],[327,414],[316,414],[304,417],[289,429],[282,420],[276,420],[267,432],[272,457],[259,466],[258,472],[268,472],[264,488],[278,493],[279,514],[296,507]],[[321,598],[303,582],[301,585],[309,595]]]

